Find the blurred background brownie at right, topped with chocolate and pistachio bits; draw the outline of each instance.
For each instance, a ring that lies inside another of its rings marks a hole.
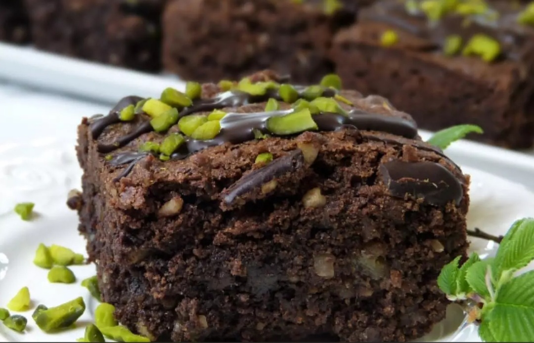
[[[477,14],[458,7],[436,17],[417,1],[378,1],[336,35],[336,73],[348,87],[387,97],[423,129],[471,123],[484,129],[472,139],[531,147],[534,28],[518,22],[518,2],[478,3]],[[488,49],[485,58],[468,52],[473,43]]]

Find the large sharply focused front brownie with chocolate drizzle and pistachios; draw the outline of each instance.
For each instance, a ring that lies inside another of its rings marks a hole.
[[[444,318],[469,177],[410,115],[330,80],[262,71],[83,119],[69,204],[122,324],[176,342],[407,341]]]

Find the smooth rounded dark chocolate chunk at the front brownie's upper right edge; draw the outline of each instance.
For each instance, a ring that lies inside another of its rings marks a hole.
[[[391,161],[380,165],[380,177],[392,196],[407,194],[432,205],[459,204],[464,190],[454,174],[434,162]]]

